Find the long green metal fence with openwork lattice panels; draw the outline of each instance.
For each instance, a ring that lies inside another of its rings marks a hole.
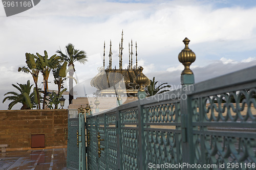
[[[256,169],[255,71],[87,116],[88,169]]]

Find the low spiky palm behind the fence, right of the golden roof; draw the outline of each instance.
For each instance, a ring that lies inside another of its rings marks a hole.
[[[166,91],[170,91],[169,89],[166,89],[170,88],[170,85],[168,85],[167,83],[162,83],[158,87],[156,87],[157,83],[158,81],[155,82],[155,77],[153,77],[153,80],[150,80],[150,85],[146,87],[147,96],[152,96]]]

